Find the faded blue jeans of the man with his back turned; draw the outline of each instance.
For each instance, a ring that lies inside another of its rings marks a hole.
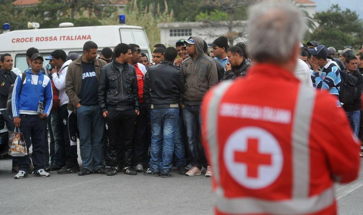
[[[174,133],[178,118],[178,108],[151,109],[151,171],[170,172],[174,153]]]

